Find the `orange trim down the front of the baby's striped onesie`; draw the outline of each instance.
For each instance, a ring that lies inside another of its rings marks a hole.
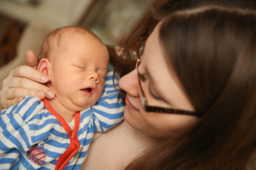
[[[58,158],[55,169],[54,169],[54,170],[63,170],[67,166],[70,159],[77,153],[77,151],[80,148],[80,143],[76,136],[77,131],[79,129],[79,124],[80,124],[80,112],[75,112],[75,115],[74,115],[75,125],[74,125],[74,130],[72,131],[70,126],[65,121],[65,119],[63,119],[60,116],[60,114],[58,114],[52,109],[48,100],[46,98],[43,98],[42,101],[46,106],[47,110],[49,110],[53,114],[53,116],[55,116],[58,119],[58,121],[61,123],[62,127],[65,129],[65,131],[67,132],[70,138],[70,145],[68,146],[64,154]]]

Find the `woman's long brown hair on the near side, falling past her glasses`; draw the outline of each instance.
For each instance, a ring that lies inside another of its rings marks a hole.
[[[166,61],[198,125],[165,141],[126,170],[248,169],[256,151],[256,13],[217,6],[175,12],[159,31]]]

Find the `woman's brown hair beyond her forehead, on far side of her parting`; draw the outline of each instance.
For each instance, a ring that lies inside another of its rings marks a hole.
[[[115,47],[107,46],[109,50],[110,63],[114,65],[114,80],[115,77],[122,77],[131,72],[135,68],[136,50],[141,34],[150,34],[158,22],[166,15],[184,9],[199,7],[203,5],[221,5],[228,7],[250,8],[256,9],[255,0],[156,0],[152,5],[137,19],[136,23],[128,32],[122,53],[116,54]],[[118,88],[116,86],[115,88]],[[125,96],[124,91],[120,91],[121,96]]]

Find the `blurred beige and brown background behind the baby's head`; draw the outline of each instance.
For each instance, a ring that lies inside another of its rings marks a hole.
[[[36,55],[53,29],[80,25],[105,44],[120,45],[153,0],[0,0],[0,89],[10,70]]]

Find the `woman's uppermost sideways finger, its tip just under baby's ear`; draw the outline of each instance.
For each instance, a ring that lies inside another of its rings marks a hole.
[[[48,77],[38,70],[31,68],[30,66],[21,65],[11,70],[10,76],[12,77],[25,77],[32,81],[39,83],[49,82]]]

